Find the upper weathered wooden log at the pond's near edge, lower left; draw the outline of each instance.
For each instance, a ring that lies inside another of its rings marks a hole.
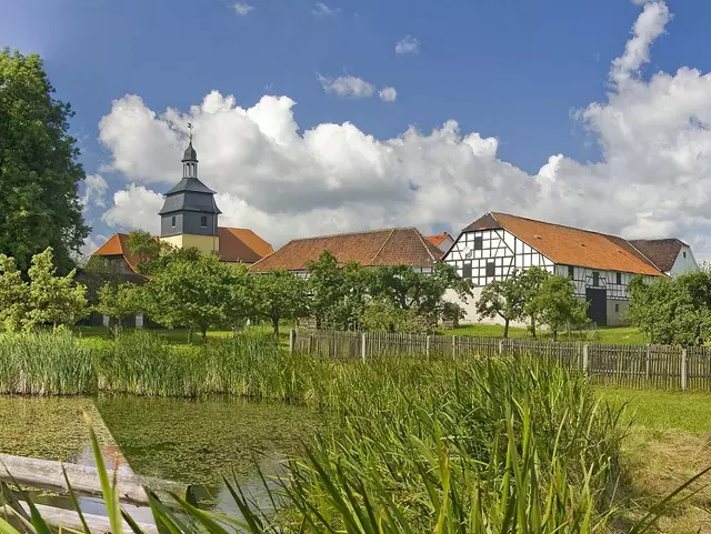
[[[99,470],[91,465],[63,464],[72,490],[80,495],[101,495]],[[186,496],[188,486],[172,481],[141,477],[121,468],[108,467],[109,478],[114,480],[119,491],[119,498],[134,504],[148,504],[148,495],[143,487],[157,493],[177,493]],[[28,459],[0,454],[0,480],[17,483],[22,486],[67,492],[67,481],[62,473],[61,462],[51,460]]]

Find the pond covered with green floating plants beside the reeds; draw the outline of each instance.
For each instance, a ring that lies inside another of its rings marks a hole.
[[[124,461],[139,475],[188,484],[202,506],[221,512],[236,512],[222,475],[254,494],[250,486],[261,487],[258,465],[267,475],[278,474],[280,461],[319,427],[311,410],[243,399],[0,396],[0,453],[92,464],[82,410],[110,464]],[[70,507],[57,496],[39,501]],[[81,506],[106,513],[96,498],[82,498]],[[143,518],[148,511],[133,512]]]

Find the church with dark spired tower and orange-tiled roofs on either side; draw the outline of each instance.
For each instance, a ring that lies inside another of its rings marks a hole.
[[[161,218],[161,241],[178,248],[196,246],[204,254],[216,253],[223,262],[254,263],[273,252],[271,244],[243,228],[218,224],[222,213],[214,201],[216,192],[198,178],[198,154],[190,143],[182,158],[182,179],[166,193],[158,213]],[[92,255],[109,260],[117,274],[136,273],[137,258],[127,244],[128,234],[117,233]]]

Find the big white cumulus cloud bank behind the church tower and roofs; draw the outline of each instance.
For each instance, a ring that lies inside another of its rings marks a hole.
[[[241,107],[213,91],[188,111],[156,113],[127,95],[100,124],[110,168],[128,182],[104,221],[158,231],[159,193],[181,175],[190,121],[200,177],[220,192],[221,224],[252,228],[276,245],[391,225],[457,232],[498,210],[629,238],[675,235],[709,256],[711,74],[684,67],[639,75],[670,17],[663,2],[644,6],[612,63],[607,99],[577,113],[600,145],[597,163],[554,154],[529,174],[498,155],[495,138],[455,121],[383,140],[350,122],[303,130],[288,97]]]

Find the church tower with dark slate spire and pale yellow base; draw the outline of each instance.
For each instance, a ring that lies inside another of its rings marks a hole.
[[[203,254],[219,252],[218,215],[214,191],[198,180],[198,153],[190,143],[182,157],[182,180],[166,193],[161,216],[160,239],[173,246],[194,246]]]

